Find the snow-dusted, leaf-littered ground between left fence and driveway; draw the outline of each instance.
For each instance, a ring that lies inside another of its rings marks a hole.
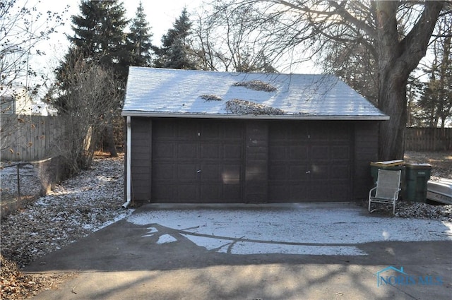
[[[4,181],[7,172],[11,173],[9,169],[0,171],[1,188],[9,188],[9,181]],[[27,176],[23,188],[29,188],[30,195],[37,194],[40,187],[33,187],[31,179],[32,176]],[[22,186],[20,189],[22,191]],[[38,257],[131,215],[133,210],[124,210],[122,203],[123,155],[96,158],[92,169],[62,181],[47,196],[37,198],[1,220],[1,254],[15,260],[20,267],[28,265]]]

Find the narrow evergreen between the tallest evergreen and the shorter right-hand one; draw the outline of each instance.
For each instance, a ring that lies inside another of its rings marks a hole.
[[[136,9],[136,17],[133,18],[130,33],[127,37],[127,43],[130,52],[131,66],[150,66],[151,64],[151,49],[153,48],[150,38],[153,36],[150,33],[148,21],[143,10],[143,4],[140,1]]]

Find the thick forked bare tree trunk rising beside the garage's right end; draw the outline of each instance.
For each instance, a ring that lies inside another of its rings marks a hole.
[[[399,1],[376,1],[379,108],[391,117],[380,125],[380,160],[403,159],[408,76],[425,56],[436,20],[444,6],[441,1],[426,1],[420,20],[403,40],[399,40],[396,19],[399,4]]]

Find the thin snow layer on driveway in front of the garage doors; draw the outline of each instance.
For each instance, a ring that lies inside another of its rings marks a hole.
[[[233,254],[365,255],[357,245],[452,240],[451,222],[378,217],[366,212],[343,204],[293,205],[256,210],[148,210],[127,220],[175,229],[209,251]]]

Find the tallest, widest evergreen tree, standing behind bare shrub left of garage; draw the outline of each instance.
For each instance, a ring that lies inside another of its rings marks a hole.
[[[73,81],[69,80],[73,76],[76,62],[81,61],[86,64],[93,64],[108,74],[111,74],[114,82],[117,83],[112,92],[124,92],[129,66],[129,52],[126,44],[126,29],[128,20],[125,18],[125,9],[122,2],[118,0],[81,0],[81,14],[72,16],[73,36],[68,36],[72,42],[69,52],[61,61],[61,65],[56,70],[57,86],[61,90],[61,97],[55,100],[59,111],[61,109],[70,109],[67,104],[71,89],[74,88]],[[105,126],[102,143],[109,148],[112,156],[117,156],[114,147],[114,131],[122,131],[121,128],[114,128],[114,119],[121,119],[121,100],[122,96],[110,97],[114,102],[109,107],[105,107],[101,117],[107,126]],[[95,105],[95,103],[93,103]],[[76,112],[66,112],[73,113]]]

